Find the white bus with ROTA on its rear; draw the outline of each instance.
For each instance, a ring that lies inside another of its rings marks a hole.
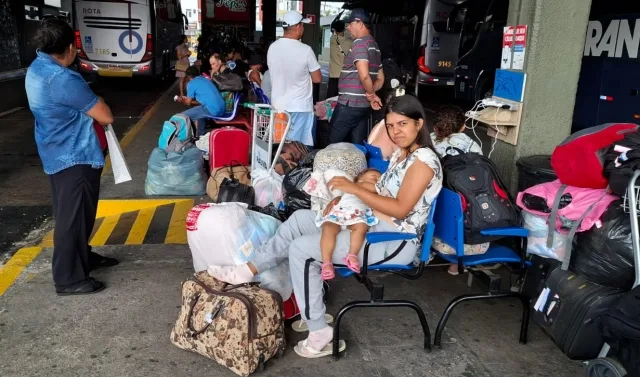
[[[78,71],[99,76],[164,77],[186,17],[180,0],[74,0]]]

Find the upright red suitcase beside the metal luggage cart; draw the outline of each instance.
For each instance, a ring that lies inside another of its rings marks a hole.
[[[239,128],[222,127],[209,133],[209,167],[211,171],[223,166],[249,165],[251,136]]]

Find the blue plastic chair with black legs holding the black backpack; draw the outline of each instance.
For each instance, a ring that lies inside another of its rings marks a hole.
[[[451,316],[453,309],[458,304],[465,301],[497,298],[517,298],[521,301],[523,309],[522,325],[520,327],[520,343],[526,344],[527,330],[529,327],[529,298],[518,292],[501,290],[501,279],[499,275],[487,275],[483,271],[475,270],[474,267],[493,264],[517,264],[519,266],[519,274],[523,276],[527,267],[525,251],[527,249],[527,235],[529,231],[522,227],[507,227],[481,232],[481,234],[485,236],[519,238],[521,240],[518,247],[518,249],[520,249],[519,253],[507,246],[492,243],[484,254],[464,255],[464,214],[462,212],[462,203],[457,193],[445,188],[442,189],[438,196],[438,209],[434,216],[434,222],[435,237],[438,237],[456,251],[456,255],[436,252],[438,256],[449,263],[457,263],[459,271],[467,270],[489,285],[488,293],[462,295],[456,297],[447,305],[436,328],[434,345],[438,348],[442,347],[442,332],[449,320],[449,316]]]

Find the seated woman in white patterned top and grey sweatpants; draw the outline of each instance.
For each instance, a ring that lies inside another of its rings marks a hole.
[[[385,120],[387,133],[399,149],[391,157],[388,170],[382,176],[376,176],[375,190],[363,184],[367,178],[354,182],[345,177],[336,177],[328,182],[328,186],[330,190],[344,192],[342,200],[345,196],[357,198],[366,207],[365,211],[372,211],[377,221],[368,227],[369,232],[399,231],[415,233],[421,238],[431,204],[442,188],[440,161],[425,124],[422,104],[417,98],[404,95],[404,90],[399,90],[386,106]],[[322,216],[326,217],[339,205],[337,203],[328,208]],[[333,329],[325,322],[326,307],[322,300],[323,267],[325,279],[330,278],[328,271],[333,270],[327,264],[327,255],[334,265],[356,270],[362,263],[364,243],[360,230],[357,230],[358,237],[352,237],[346,227],[323,226],[317,217],[318,214],[311,210],[297,211],[282,224],[271,240],[256,250],[252,262],[234,267],[209,268],[209,273],[216,278],[239,284],[251,281],[256,274],[289,258],[298,306],[310,331],[309,337],[300,342],[295,351],[307,358],[331,353]],[[352,242],[359,245],[352,245]],[[419,242],[410,241],[400,250],[397,249],[402,241],[371,245],[369,263],[409,264],[419,253]],[[333,250],[330,246],[333,246]],[[327,253],[327,250],[332,252]]]

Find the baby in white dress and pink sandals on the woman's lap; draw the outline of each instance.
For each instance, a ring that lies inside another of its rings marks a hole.
[[[367,169],[360,173],[355,183],[368,191],[376,192],[376,183],[380,179],[380,172]],[[358,254],[364,244],[367,230],[378,223],[371,208],[367,207],[357,196],[344,194],[333,199],[322,215],[316,219],[316,225],[322,228],[320,249],[322,251],[322,280],[335,277],[335,270],[331,257],[336,246],[336,237],[343,229],[351,232],[349,254],[343,259],[347,267],[356,273],[360,272]]]

